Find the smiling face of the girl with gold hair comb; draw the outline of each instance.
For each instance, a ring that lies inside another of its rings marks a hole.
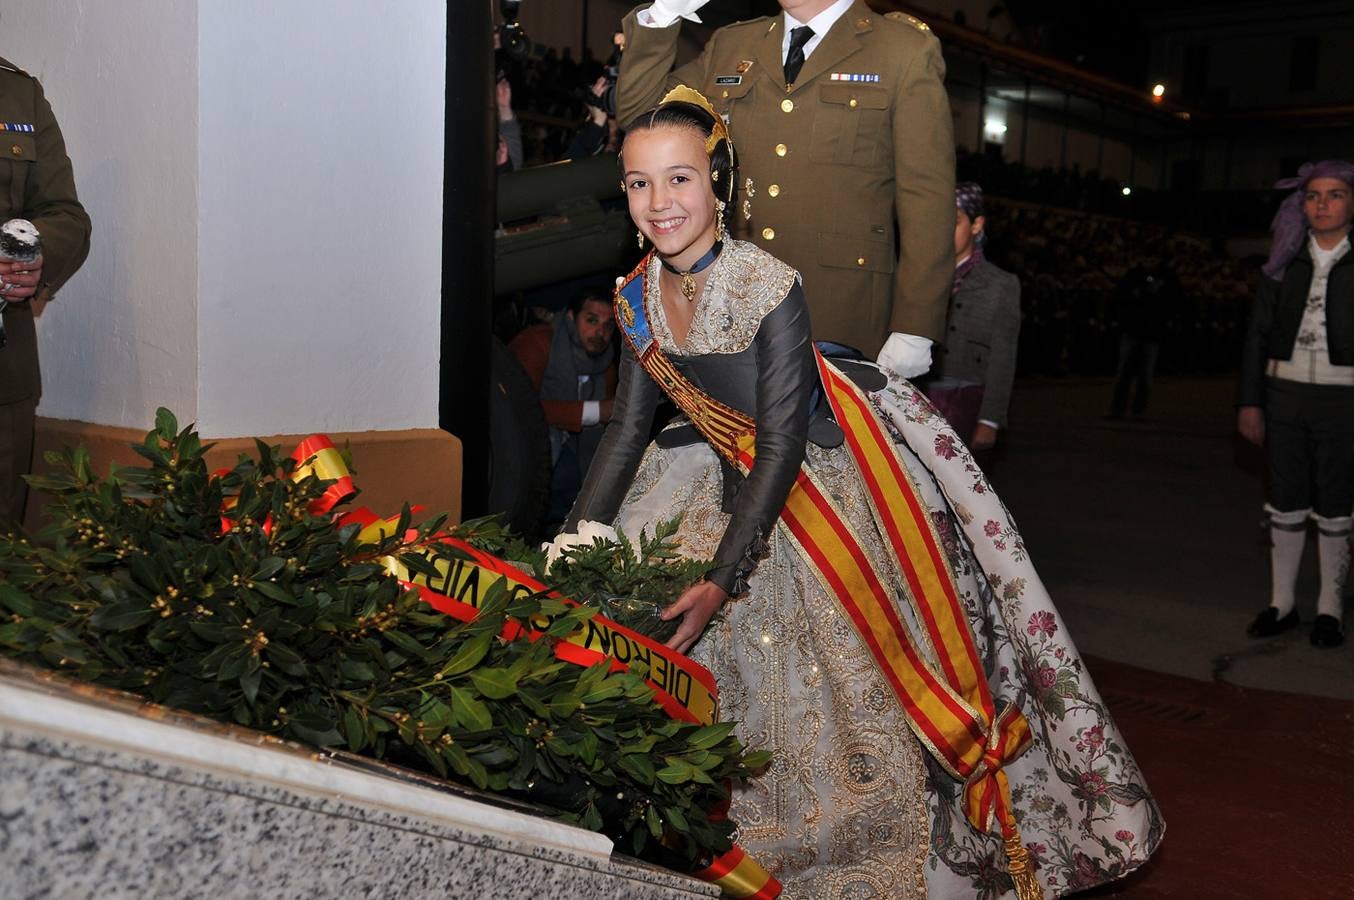
[[[621,161],[630,218],[669,264],[689,269],[715,245],[705,137],[676,126],[632,131]]]

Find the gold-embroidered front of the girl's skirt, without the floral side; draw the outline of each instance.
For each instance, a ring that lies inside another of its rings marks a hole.
[[[872,556],[886,559],[858,479],[838,472],[850,464],[845,452],[811,447],[810,456]],[[709,558],[727,522],[719,479],[704,444],[650,447],[617,524],[635,535],[681,512],[684,552]],[[739,723],[746,744],[776,752],[734,796],[738,842],[788,899],[925,899],[921,746],[850,623],[779,531],[747,593],[692,652],[719,682],[720,717]]]

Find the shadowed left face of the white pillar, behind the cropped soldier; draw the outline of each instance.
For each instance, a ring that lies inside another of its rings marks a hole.
[[[38,319],[41,414],[198,414],[198,14],[173,0],[5,0],[0,55],[57,114],[89,258]]]

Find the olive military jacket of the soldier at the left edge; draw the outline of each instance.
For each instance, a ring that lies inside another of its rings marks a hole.
[[[89,217],[76,196],[74,175],[61,129],[38,80],[0,60],[0,222],[30,219],[42,235],[42,284],[37,300],[50,300],[89,253]],[[0,403],[37,399],[38,336],[32,302],[4,311],[0,349]]]

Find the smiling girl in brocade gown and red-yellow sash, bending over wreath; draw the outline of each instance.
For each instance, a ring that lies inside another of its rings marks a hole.
[[[617,290],[612,422],[565,531],[681,513],[714,558],[665,617],[776,754],[734,793],[739,845],[787,897],[1062,895],[1140,866],[1156,804],[963,443],[910,383],[821,359],[812,286],[724,237],[737,160],[704,97],[640,116],[621,169],[654,250]],[[650,444],[665,392],[685,418]]]

